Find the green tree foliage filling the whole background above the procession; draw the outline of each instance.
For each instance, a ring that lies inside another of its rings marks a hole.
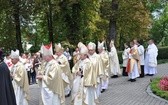
[[[164,8],[164,0],[116,0],[118,2],[116,47],[134,38],[147,39],[151,13]],[[161,4],[159,4],[161,3]],[[51,0],[54,42],[74,47],[79,41],[88,43],[105,40],[109,35],[109,20],[114,11],[112,0]],[[14,8],[10,1],[0,1],[0,47],[16,48]],[[21,0],[18,2],[22,42],[33,44],[37,51],[42,43],[49,43],[48,0]],[[160,20],[154,20],[150,35],[158,42],[167,38],[167,9]],[[160,28],[161,27],[161,28]],[[67,44],[68,43],[68,44]],[[121,58],[120,58],[121,59]],[[120,60],[121,62],[122,60]]]

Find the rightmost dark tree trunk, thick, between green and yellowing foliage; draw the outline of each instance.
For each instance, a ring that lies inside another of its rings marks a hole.
[[[118,0],[112,0],[111,9],[112,9],[112,16],[109,23],[109,36],[108,36],[109,42],[112,39],[115,40],[117,36],[116,19],[117,19],[117,10],[118,10]]]

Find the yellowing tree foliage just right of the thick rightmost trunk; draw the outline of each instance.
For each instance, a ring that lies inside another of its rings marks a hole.
[[[150,23],[150,13],[141,0],[120,0],[118,34],[123,41],[147,39]]]

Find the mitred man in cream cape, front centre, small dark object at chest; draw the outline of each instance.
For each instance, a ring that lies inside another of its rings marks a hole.
[[[95,86],[97,80],[91,60],[88,59],[88,49],[80,47],[80,60],[72,68],[74,74],[72,88],[73,105],[96,105],[97,97]]]

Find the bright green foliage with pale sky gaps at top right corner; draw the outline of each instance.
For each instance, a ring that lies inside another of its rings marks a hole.
[[[168,45],[168,2],[156,0],[155,3],[148,3],[148,6],[153,14],[150,38],[161,46],[166,46]]]

